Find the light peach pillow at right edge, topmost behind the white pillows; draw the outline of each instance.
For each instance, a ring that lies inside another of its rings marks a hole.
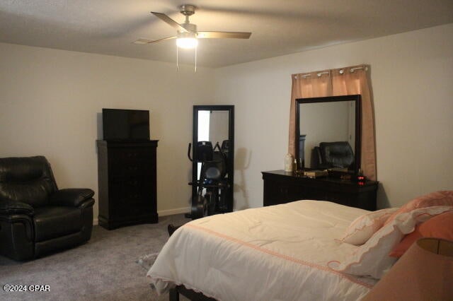
[[[435,191],[424,196],[419,196],[406,203],[406,205],[399,208],[394,214],[392,214],[384,225],[388,225],[392,220],[401,213],[411,212],[414,209],[426,208],[431,206],[453,206],[453,191]]]

